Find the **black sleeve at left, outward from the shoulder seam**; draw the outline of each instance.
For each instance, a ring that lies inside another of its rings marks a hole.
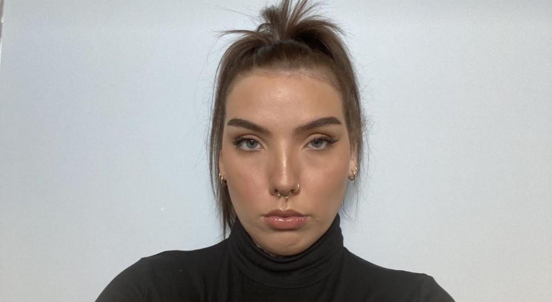
[[[100,293],[96,302],[145,301],[150,282],[146,259],[142,258],[119,273]]]

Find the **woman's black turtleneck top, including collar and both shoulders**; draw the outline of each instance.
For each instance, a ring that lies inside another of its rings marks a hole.
[[[336,215],[307,250],[273,257],[239,220],[230,236],[194,251],[140,259],[97,302],[125,301],[454,301],[426,274],[376,266],[343,247]]]

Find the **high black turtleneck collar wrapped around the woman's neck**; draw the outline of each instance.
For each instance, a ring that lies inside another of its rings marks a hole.
[[[229,240],[230,258],[252,280],[277,288],[314,284],[337,268],[343,251],[339,214],[309,248],[293,256],[274,257],[258,247],[236,219]]]

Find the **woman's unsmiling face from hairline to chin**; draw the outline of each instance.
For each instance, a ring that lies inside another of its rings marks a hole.
[[[302,252],[326,232],[356,165],[341,94],[320,79],[253,72],[227,96],[219,168],[238,219],[272,255]]]

